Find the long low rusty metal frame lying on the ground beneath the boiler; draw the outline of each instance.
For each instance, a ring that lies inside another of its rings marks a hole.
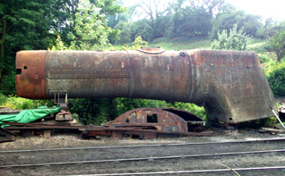
[[[180,137],[180,136],[211,136],[212,131],[205,132],[187,132],[187,131],[168,131],[153,130],[151,126],[143,127],[91,127],[91,126],[63,126],[63,125],[43,125],[31,123],[15,123],[5,122],[5,124],[13,125],[5,127],[5,130],[21,130],[24,132],[32,131],[52,131],[52,130],[73,130],[82,131],[82,138],[91,138],[97,136],[108,136],[112,138],[137,137],[137,138],[164,138],[164,137]]]

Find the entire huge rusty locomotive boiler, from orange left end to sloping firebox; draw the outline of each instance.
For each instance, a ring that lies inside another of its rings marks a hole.
[[[270,106],[277,111],[255,53],[148,52],[19,52],[17,94],[32,99],[68,94],[189,102],[203,105],[213,120],[228,123],[271,117]],[[28,69],[23,70],[25,65]]]

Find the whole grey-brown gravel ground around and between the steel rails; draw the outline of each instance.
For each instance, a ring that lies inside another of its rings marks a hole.
[[[62,147],[107,147],[107,146],[129,146],[148,144],[168,144],[168,143],[199,143],[199,142],[222,142],[245,139],[263,138],[285,138],[282,134],[270,135],[251,131],[235,131],[229,135],[218,135],[212,137],[187,137],[187,138],[158,138],[158,139],[133,139],[133,138],[101,138],[100,140],[82,140],[79,135],[56,134],[51,138],[31,137],[17,138],[16,141],[0,143],[0,150],[22,150],[22,149],[42,149],[42,148],[62,148]],[[32,154],[11,154],[0,155],[0,163],[48,163],[48,162],[69,162],[86,161],[100,159],[119,159],[132,157],[154,157],[162,155],[193,155],[209,154],[234,151],[253,151],[284,149],[285,142],[266,143],[245,143],[238,145],[194,145],[191,147],[148,147],[148,148],[125,148],[125,149],[100,149],[100,150],[79,150],[61,152],[39,152]],[[56,156],[56,157],[55,157]],[[284,153],[270,153],[258,155],[234,155],[234,156],[214,156],[199,158],[183,158],[171,160],[154,160],[141,162],[123,163],[89,163],[72,164],[59,166],[40,166],[31,168],[3,169],[0,175],[62,175],[62,174],[99,174],[99,173],[119,173],[119,172],[167,172],[167,171],[189,171],[203,169],[225,169],[219,163],[223,163],[230,168],[278,166],[284,165]],[[241,175],[282,175],[284,170],[238,172]],[[176,175],[189,175],[176,174]],[[194,174],[191,174],[194,175]],[[199,173],[196,175],[234,175],[233,172],[219,173]]]

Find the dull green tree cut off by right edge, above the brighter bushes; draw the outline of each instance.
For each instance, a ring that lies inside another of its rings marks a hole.
[[[285,56],[285,29],[276,31],[274,36],[269,39],[272,51],[277,55],[277,61],[280,62]]]

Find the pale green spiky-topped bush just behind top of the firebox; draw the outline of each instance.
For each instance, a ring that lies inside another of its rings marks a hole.
[[[224,50],[246,50],[247,38],[243,29],[238,30],[238,24],[234,24],[233,29],[228,31],[226,29],[218,33],[218,39],[214,39],[212,42],[213,49],[224,49]]]

